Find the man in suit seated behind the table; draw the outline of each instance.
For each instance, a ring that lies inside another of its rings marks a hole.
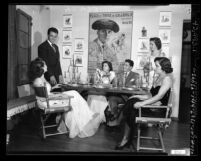
[[[119,78],[125,79],[124,85],[125,87],[132,87],[133,85],[137,85],[139,81],[139,74],[135,73],[132,70],[134,66],[134,62],[130,59],[126,59],[124,63],[124,73],[120,74]],[[110,117],[110,121],[114,121],[118,117],[118,104],[124,104],[130,95],[122,94],[122,95],[113,95],[109,96],[108,101],[110,105],[110,110],[112,117]]]

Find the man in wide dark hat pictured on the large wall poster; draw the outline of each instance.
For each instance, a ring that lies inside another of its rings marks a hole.
[[[104,60],[110,61],[113,66],[117,64],[115,51],[108,46],[108,35],[119,32],[119,25],[113,20],[99,19],[92,24],[92,29],[97,30],[97,38],[89,43],[89,62],[99,68]],[[96,63],[95,63],[96,62]]]

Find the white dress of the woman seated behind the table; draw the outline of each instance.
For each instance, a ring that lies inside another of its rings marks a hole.
[[[113,71],[110,71],[109,80],[107,80],[106,77],[103,76],[102,72],[100,73],[100,77],[103,84],[109,84],[112,82],[112,80],[115,78],[115,73]],[[90,94],[87,98],[87,103],[89,105],[89,108],[94,112],[98,113],[97,116],[99,118],[99,122],[106,122],[104,111],[108,106],[107,98],[102,95],[101,93]]]

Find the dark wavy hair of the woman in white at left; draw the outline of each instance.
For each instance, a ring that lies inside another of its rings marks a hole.
[[[30,68],[29,68],[29,79],[33,81],[36,78],[39,78],[44,73],[44,61],[41,58],[36,58],[31,61]]]

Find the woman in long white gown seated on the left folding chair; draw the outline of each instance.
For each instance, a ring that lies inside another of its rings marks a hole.
[[[57,97],[58,94],[50,92],[51,85],[44,78],[44,73],[46,71],[47,66],[45,62],[41,58],[36,58],[30,64],[30,79],[32,80],[34,87],[41,87],[46,83],[48,95]],[[61,94],[74,96],[74,98],[71,99],[72,110],[65,114],[65,122],[61,122],[58,130],[66,131],[65,127],[67,126],[70,138],[76,136],[83,138],[94,135],[100,125],[98,114],[95,114],[89,109],[87,102],[77,91],[71,90],[62,92]],[[47,104],[42,98],[37,98],[37,103],[40,108],[47,108]],[[49,104],[50,106],[55,107],[58,105],[68,105],[68,100],[50,100]]]

